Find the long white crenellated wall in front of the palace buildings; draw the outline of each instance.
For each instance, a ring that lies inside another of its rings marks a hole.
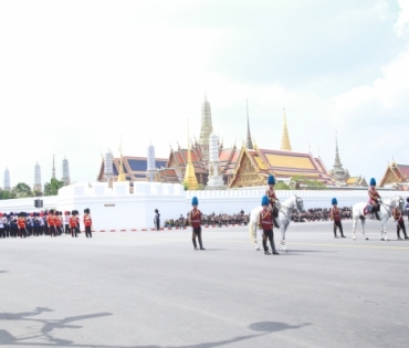
[[[203,190],[185,191],[181,184],[158,182],[135,182],[134,193],[129,193],[129,182],[114,182],[109,189],[106,182],[74,183],[59,190],[59,196],[43,197],[43,209],[34,208],[34,198],[1,200],[0,211],[40,211],[45,209],[78,210],[91,209],[94,229],[145,229],[154,226],[155,209],[160,212],[161,222],[176,219],[191,209],[191,198],[197,196],[200,210],[208,213],[237,213],[241,210],[250,212],[260,205],[264,189],[240,190]],[[304,200],[304,208],[331,207],[331,199],[336,197],[339,207],[350,207],[357,202],[368,200],[366,190],[315,190],[315,191],[276,191],[283,202],[293,194]],[[402,191],[381,191],[381,197],[388,198],[397,194],[408,197]]]

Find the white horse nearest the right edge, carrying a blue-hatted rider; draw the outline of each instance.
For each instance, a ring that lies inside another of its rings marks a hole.
[[[389,218],[392,215],[392,209],[395,207],[399,207],[400,210],[403,209],[403,198],[400,196],[395,196],[392,198],[387,198],[385,201],[380,203],[380,210],[378,211],[378,217],[381,224],[380,230],[380,240],[381,241],[389,241],[388,236],[386,235],[386,223],[388,222]],[[358,220],[363,225],[363,235],[365,240],[369,240],[365,234],[365,221],[366,219],[369,220],[377,220],[375,214],[364,215],[364,209],[367,207],[367,203],[356,203],[353,208],[353,240],[356,240],[355,230]]]

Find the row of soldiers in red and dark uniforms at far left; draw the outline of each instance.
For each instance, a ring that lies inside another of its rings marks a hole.
[[[72,238],[77,238],[78,233],[81,233],[78,215],[77,210],[62,213],[53,209],[32,213],[11,212],[7,214],[0,212],[0,238],[57,236],[70,233]],[[83,222],[86,238],[92,238],[90,209],[84,210]]]

